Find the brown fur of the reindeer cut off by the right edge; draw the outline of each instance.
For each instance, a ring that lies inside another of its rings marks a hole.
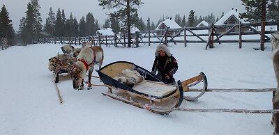
[[[273,93],[273,109],[279,109],[279,51],[274,52],[273,56],[273,67],[276,75],[277,88]],[[279,113],[273,113],[273,123],[275,125],[274,134],[279,135]]]

